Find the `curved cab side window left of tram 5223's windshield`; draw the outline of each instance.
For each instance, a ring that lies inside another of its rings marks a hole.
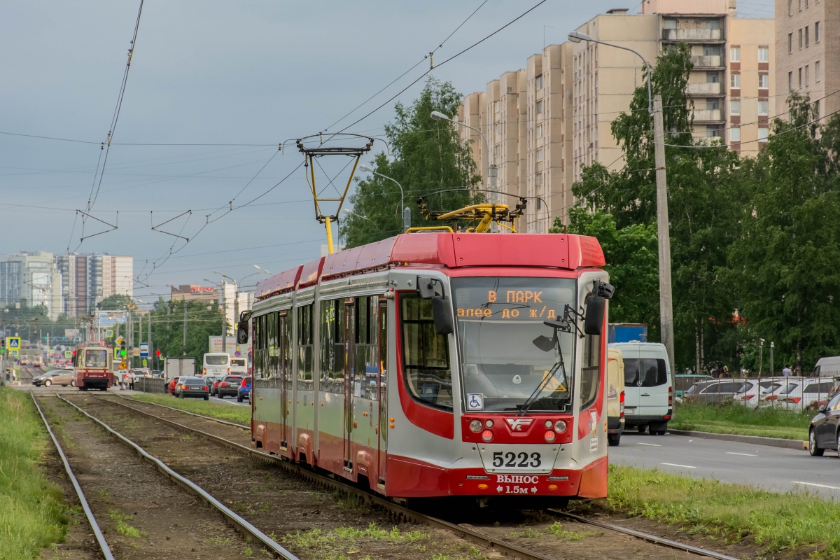
[[[408,389],[415,400],[452,410],[452,369],[449,342],[434,330],[432,301],[416,294],[402,302],[402,362]]]

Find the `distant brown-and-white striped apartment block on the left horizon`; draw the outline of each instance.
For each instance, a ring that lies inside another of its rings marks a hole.
[[[70,254],[55,258],[61,273],[62,312],[70,317],[96,309],[108,296],[134,295],[134,258],[110,254]]]

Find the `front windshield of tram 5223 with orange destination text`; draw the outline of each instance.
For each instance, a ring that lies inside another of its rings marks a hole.
[[[564,367],[556,368],[556,349],[533,341],[552,336],[543,321],[575,306],[575,280],[454,278],[452,287],[466,410],[571,411],[575,337],[558,333]]]

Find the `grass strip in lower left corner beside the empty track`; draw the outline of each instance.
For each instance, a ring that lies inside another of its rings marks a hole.
[[[0,560],[37,558],[66,535],[63,494],[39,463],[47,437],[29,393],[0,388]]]

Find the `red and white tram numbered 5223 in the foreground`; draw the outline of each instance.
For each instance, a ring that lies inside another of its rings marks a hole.
[[[579,235],[409,233],[261,282],[255,447],[394,498],[606,496],[603,264]]]

